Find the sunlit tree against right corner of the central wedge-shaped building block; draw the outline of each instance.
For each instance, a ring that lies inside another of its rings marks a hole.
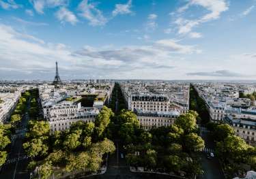
[[[175,125],[181,127],[185,133],[190,133],[196,128],[197,118],[195,114],[191,114],[191,112],[182,114],[175,120]]]

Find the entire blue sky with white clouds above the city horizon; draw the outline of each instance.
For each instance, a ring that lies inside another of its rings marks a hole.
[[[256,79],[255,0],[0,0],[0,79]]]

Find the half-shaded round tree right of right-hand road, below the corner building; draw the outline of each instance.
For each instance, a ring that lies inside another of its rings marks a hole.
[[[217,125],[214,130],[214,137],[216,141],[225,140],[227,136],[234,134],[235,131],[233,131],[233,128],[227,124]]]

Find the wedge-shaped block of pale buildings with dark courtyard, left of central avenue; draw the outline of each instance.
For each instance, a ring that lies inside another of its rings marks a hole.
[[[65,84],[39,86],[44,118],[51,131],[70,128],[79,120],[94,122],[103,105],[109,103],[113,84]]]

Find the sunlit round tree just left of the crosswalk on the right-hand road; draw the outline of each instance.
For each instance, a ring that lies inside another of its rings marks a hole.
[[[184,139],[184,146],[187,151],[198,152],[203,150],[203,148],[205,147],[204,140],[196,133],[190,133],[188,135],[185,135]]]

